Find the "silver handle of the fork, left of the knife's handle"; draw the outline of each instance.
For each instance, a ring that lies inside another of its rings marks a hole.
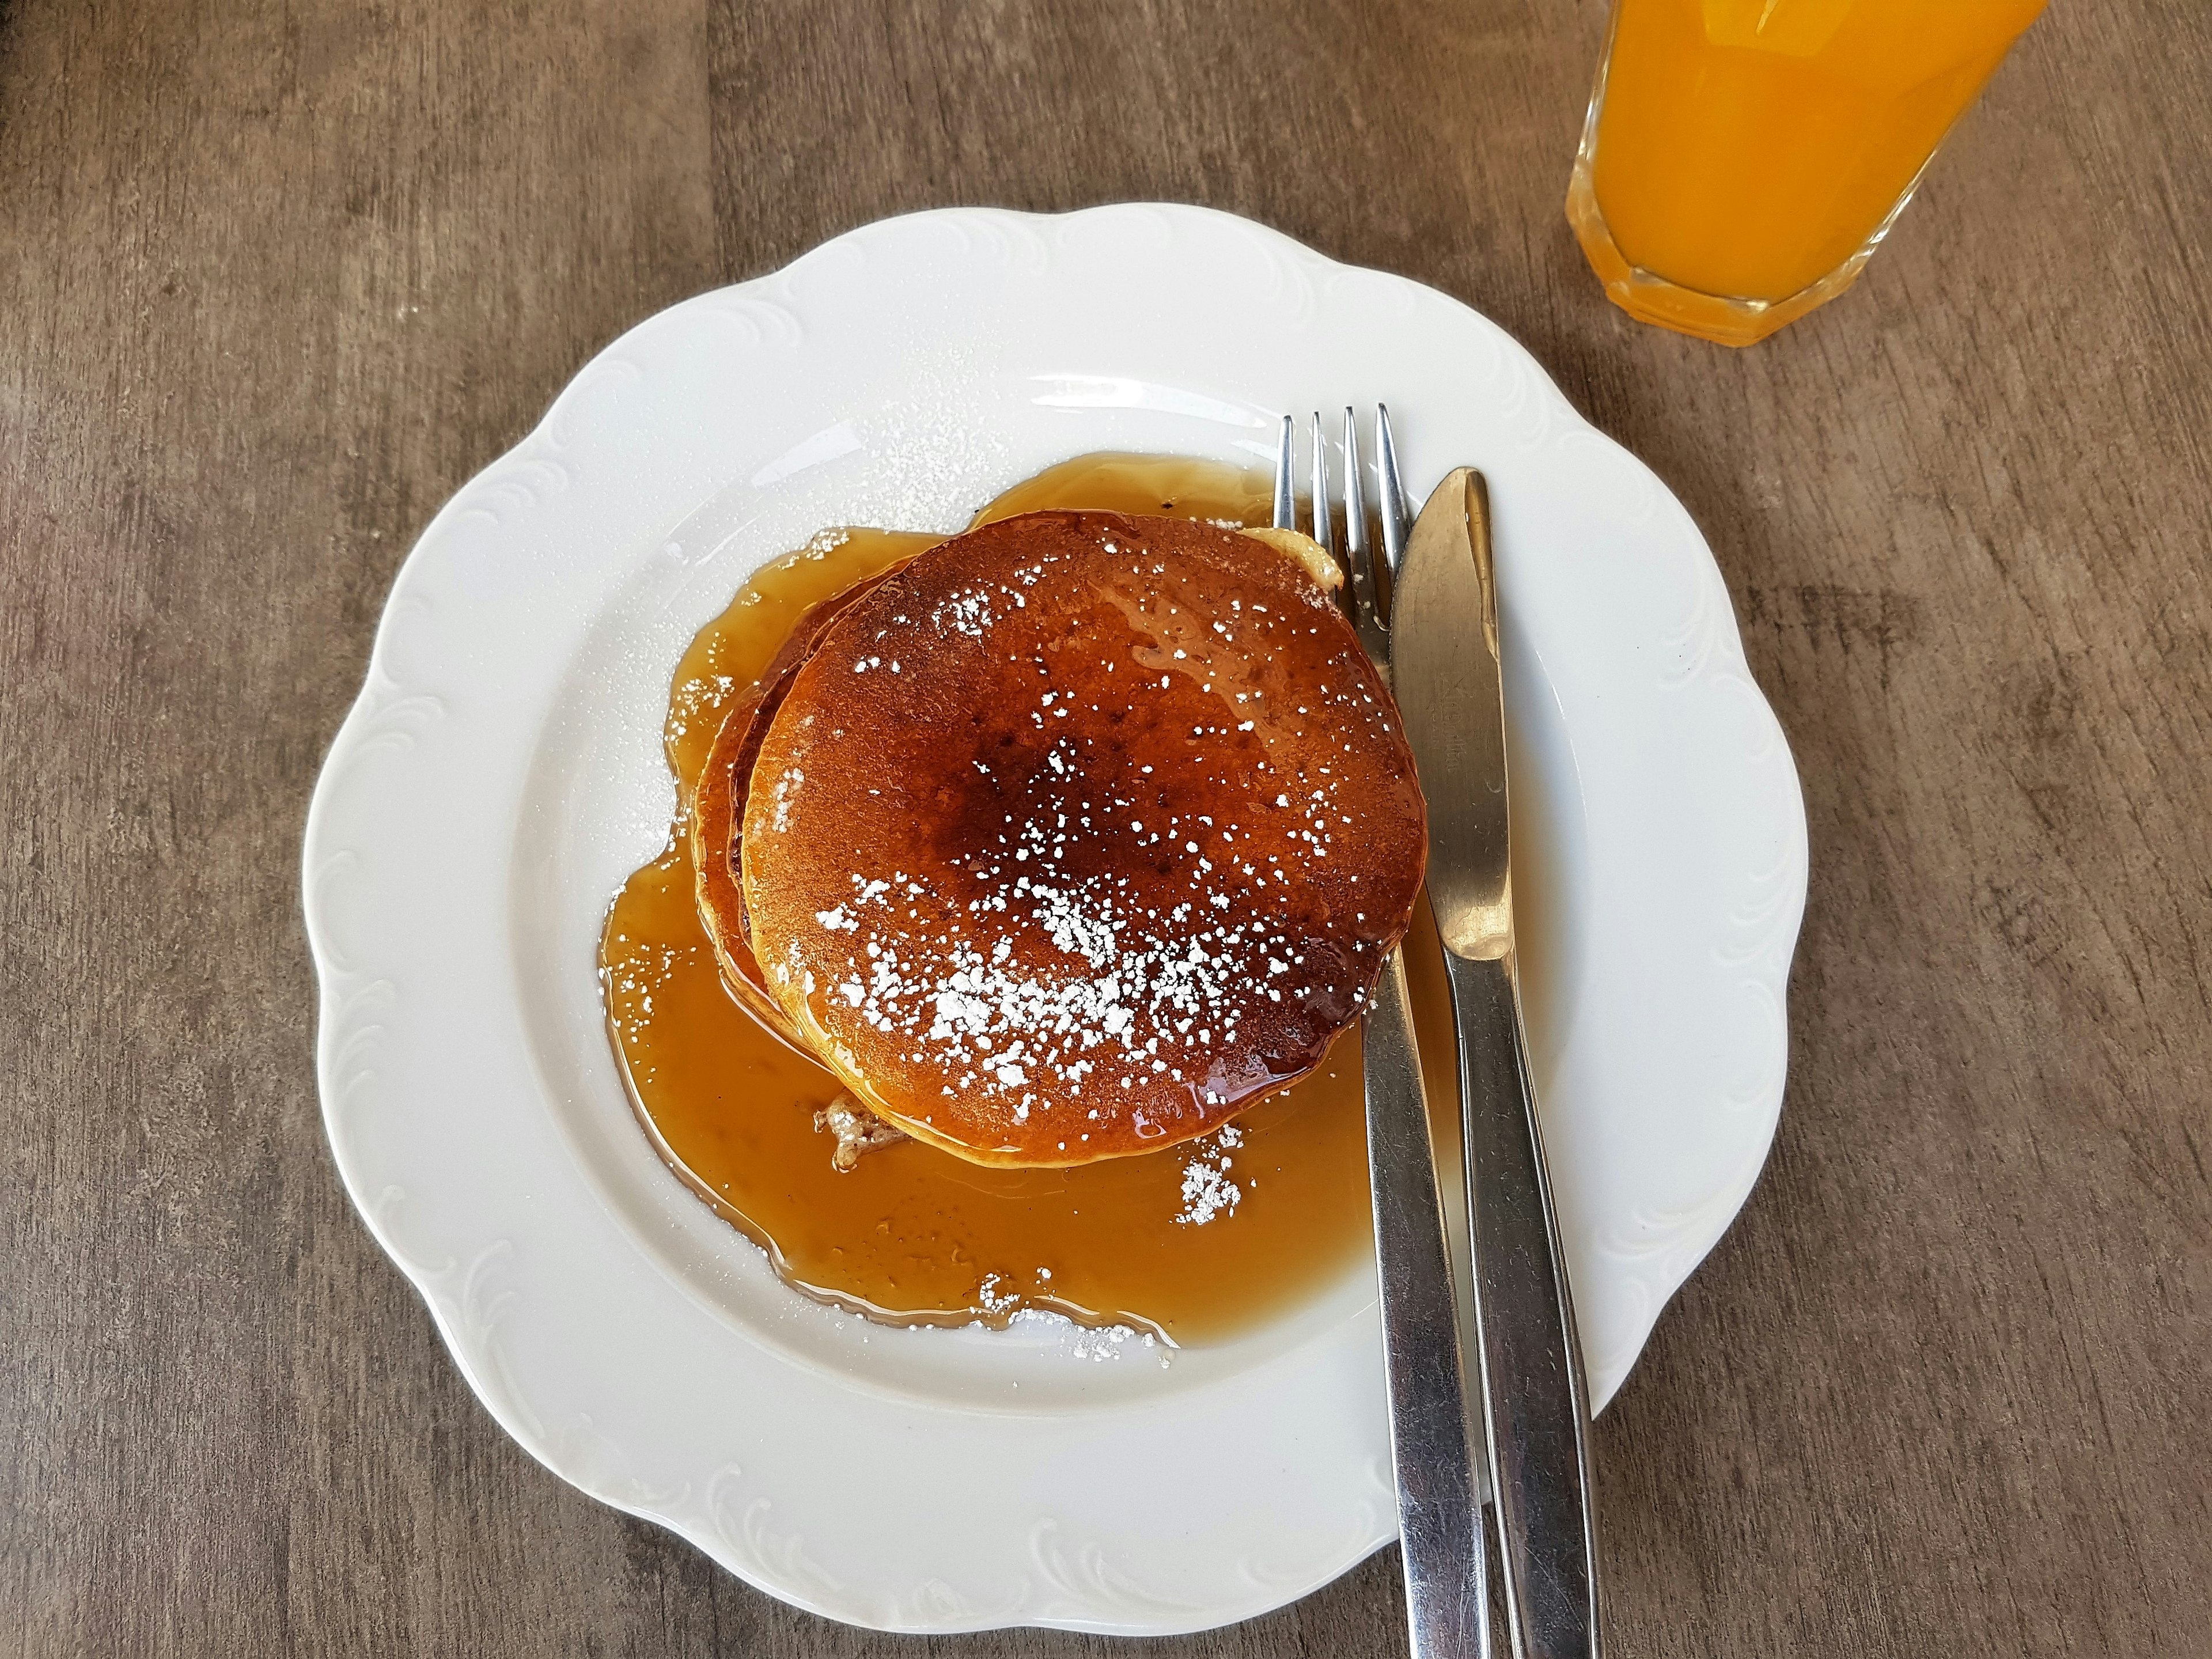
[[[1489,1659],[1482,1498],[1469,1431],[1475,1378],[1462,1360],[1429,1102],[1398,951],[1383,964],[1367,1004],[1360,1055],[1411,1655]]]

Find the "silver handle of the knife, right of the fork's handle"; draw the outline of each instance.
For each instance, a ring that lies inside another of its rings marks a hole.
[[[1595,1659],[1588,1389],[1511,958],[1444,953],[1460,1022],[1475,1352],[1515,1659]]]

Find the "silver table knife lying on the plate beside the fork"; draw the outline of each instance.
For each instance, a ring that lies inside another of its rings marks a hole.
[[[1429,801],[1429,902],[1460,1024],[1475,1347],[1517,1659],[1599,1652],[1588,1389],[1528,1082],[1513,947],[1498,586],[1482,473],[1407,538],[1391,681]]]

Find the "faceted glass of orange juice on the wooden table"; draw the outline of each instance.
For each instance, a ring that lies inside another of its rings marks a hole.
[[[1613,0],[1566,217],[1613,303],[1750,345],[1858,276],[2044,0]]]

